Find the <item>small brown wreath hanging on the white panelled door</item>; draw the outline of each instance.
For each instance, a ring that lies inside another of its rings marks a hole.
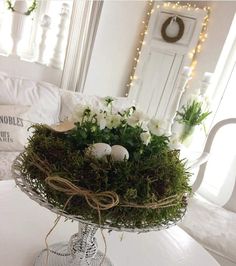
[[[174,36],[174,37],[168,36],[167,33],[166,33],[167,27],[172,22],[176,22],[178,24],[178,26],[179,26],[179,31],[176,34],[176,36]],[[162,24],[161,36],[166,42],[169,42],[169,43],[177,42],[178,40],[180,40],[182,38],[183,34],[184,34],[184,22],[183,22],[183,20],[180,17],[177,17],[177,16],[169,17]]]

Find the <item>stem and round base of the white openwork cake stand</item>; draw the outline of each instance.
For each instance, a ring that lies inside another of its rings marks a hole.
[[[98,227],[79,223],[79,232],[68,243],[58,243],[44,249],[34,266],[113,266],[98,250],[95,233]]]

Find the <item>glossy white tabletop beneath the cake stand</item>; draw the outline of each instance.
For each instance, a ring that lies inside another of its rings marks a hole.
[[[0,181],[0,265],[33,266],[36,255],[45,248],[44,238],[55,215],[29,199],[13,181]],[[49,244],[68,241],[77,223],[60,222]],[[219,266],[211,255],[178,226],[151,233],[105,231],[114,266]],[[103,251],[101,234],[97,232]]]

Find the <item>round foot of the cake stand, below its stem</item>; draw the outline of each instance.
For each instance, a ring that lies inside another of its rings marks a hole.
[[[51,245],[49,247],[49,250],[50,251],[47,252],[47,250],[44,249],[37,256],[34,266],[113,266],[113,264],[107,257],[103,259],[104,254],[100,250],[97,251],[95,257],[91,260],[90,263],[86,260],[74,260],[73,257],[68,254],[67,243],[58,243]]]

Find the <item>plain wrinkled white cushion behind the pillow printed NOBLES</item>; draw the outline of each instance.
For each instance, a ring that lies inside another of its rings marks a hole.
[[[55,124],[59,121],[59,88],[47,82],[8,77],[0,73],[0,104],[32,106],[32,121]]]

